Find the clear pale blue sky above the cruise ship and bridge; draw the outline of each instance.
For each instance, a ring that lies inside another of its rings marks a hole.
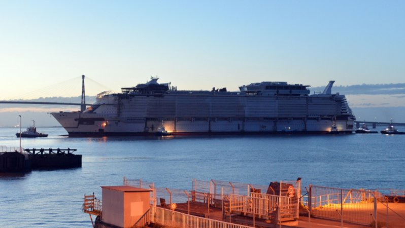
[[[0,99],[82,74],[113,90],[403,83],[405,1],[0,1]]]

